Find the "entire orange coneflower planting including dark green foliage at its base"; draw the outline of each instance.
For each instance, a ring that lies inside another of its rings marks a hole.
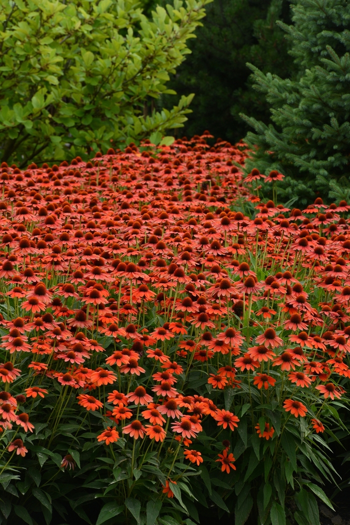
[[[2,164],[3,523],[191,525],[214,503],[315,525],[331,505],[350,206],[263,202],[283,175],[243,180],[245,145],[207,137]]]

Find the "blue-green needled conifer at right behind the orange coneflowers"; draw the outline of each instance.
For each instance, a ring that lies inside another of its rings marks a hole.
[[[242,115],[255,132],[248,170],[286,175],[284,198],[301,204],[315,196],[350,197],[350,3],[294,0],[294,25],[279,23],[298,67],[296,79],[253,71],[254,88],[264,93],[271,119],[266,124]]]

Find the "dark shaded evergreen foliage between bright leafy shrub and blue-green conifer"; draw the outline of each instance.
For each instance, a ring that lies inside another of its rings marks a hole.
[[[291,23],[290,2],[215,0],[206,13],[196,38],[188,41],[192,54],[168,83],[178,96],[195,93],[193,112],[177,134],[192,137],[208,129],[215,137],[234,143],[250,129],[239,113],[266,123],[270,118],[269,104],[253,89],[246,62],[281,78],[295,73],[284,31],[276,24],[276,20]],[[163,100],[172,107],[173,96]]]

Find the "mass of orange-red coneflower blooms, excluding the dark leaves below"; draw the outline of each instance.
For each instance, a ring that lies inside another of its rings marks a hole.
[[[39,423],[60,439],[68,409],[87,425],[101,414],[100,447],[175,439],[198,467],[205,429],[227,473],[220,440],[244,403],[262,439],[277,433],[254,400],[324,431],[321,408],[350,377],[350,206],[262,201],[258,184],[283,175],[245,178],[245,144],[208,138],[1,165],[0,429],[14,460]]]

